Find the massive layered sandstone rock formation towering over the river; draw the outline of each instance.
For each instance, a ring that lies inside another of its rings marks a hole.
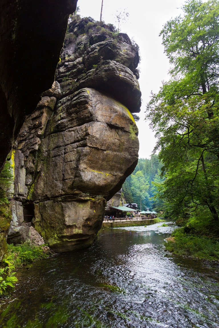
[[[106,201],[137,164],[130,112],[141,105],[139,55],[126,34],[110,29],[89,19],[70,24],[56,81],[26,117],[13,149],[11,240],[28,237],[24,217],[55,251],[91,245]]]

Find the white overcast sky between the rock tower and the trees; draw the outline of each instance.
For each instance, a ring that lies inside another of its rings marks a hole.
[[[100,18],[102,0],[78,0],[79,14],[82,17],[91,16],[95,20]],[[182,10],[184,0],[103,0],[102,20],[112,23],[118,28],[116,11],[124,10],[129,13],[128,19],[120,24],[120,31],[134,38],[140,47],[141,63],[140,89],[142,92],[141,119],[137,123],[139,128],[140,150],[139,158],[149,158],[156,140],[144,120],[146,103],[150,92],[158,92],[161,81],[169,80],[169,61],[164,54],[162,37],[159,33],[166,21],[178,16]]]

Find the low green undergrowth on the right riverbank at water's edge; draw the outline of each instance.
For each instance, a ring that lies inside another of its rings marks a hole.
[[[169,252],[207,260],[219,260],[219,242],[209,236],[195,236],[186,233],[185,228],[176,229],[172,236],[174,241],[165,244]]]

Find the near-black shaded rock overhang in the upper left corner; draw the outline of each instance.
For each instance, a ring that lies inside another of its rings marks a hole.
[[[0,168],[26,115],[54,81],[77,0],[0,1]]]

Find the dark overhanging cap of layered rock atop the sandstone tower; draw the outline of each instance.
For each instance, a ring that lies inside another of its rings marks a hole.
[[[110,93],[131,113],[139,113],[138,47],[127,34],[116,34],[111,26],[98,24],[83,18],[69,25],[76,37],[63,48],[56,70],[62,97],[81,88],[95,88]]]

